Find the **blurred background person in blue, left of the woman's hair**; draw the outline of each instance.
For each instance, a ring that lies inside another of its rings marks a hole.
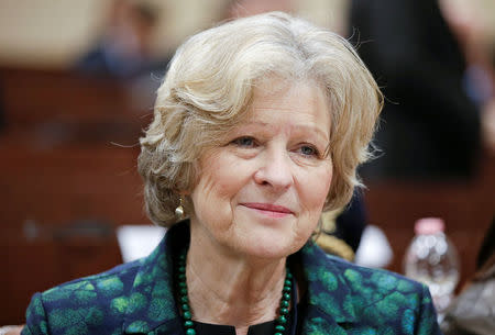
[[[113,0],[103,36],[76,63],[80,72],[132,78],[164,68],[166,60],[153,59],[152,37],[158,16],[150,5]]]

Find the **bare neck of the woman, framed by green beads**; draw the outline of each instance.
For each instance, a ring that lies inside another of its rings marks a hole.
[[[240,335],[277,316],[285,258],[233,255],[208,238],[191,237],[186,277],[194,320],[233,325]]]

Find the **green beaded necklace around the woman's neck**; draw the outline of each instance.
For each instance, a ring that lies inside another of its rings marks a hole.
[[[186,335],[196,335],[195,324],[191,320],[189,299],[187,298],[187,281],[186,281],[186,256],[187,248],[179,255],[177,264],[177,286],[179,292],[180,310],[183,311],[184,327]],[[282,291],[279,316],[275,321],[275,335],[283,335],[288,320],[289,304],[293,290],[293,275],[289,268],[286,268],[284,289]]]

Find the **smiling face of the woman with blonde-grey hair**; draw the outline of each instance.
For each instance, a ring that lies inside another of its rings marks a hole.
[[[193,239],[227,252],[286,257],[314,232],[332,179],[330,112],[311,82],[254,89],[246,120],[199,159]]]

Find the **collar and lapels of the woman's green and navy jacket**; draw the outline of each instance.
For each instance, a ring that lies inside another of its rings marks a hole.
[[[189,225],[175,224],[150,256],[140,260],[139,270],[129,293],[129,304],[123,316],[125,334],[147,334],[160,327],[160,334],[182,334],[182,320],[175,304],[173,255],[189,243]],[[308,310],[305,334],[333,328],[341,334],[339,324],[355,321],[350,300],[351,292],[333,256],[324,254],[309,242],[298,253],[308,283]],[[147,308],[136,311],[141,300]],[[344,333],[342,333],[344,334]]]

